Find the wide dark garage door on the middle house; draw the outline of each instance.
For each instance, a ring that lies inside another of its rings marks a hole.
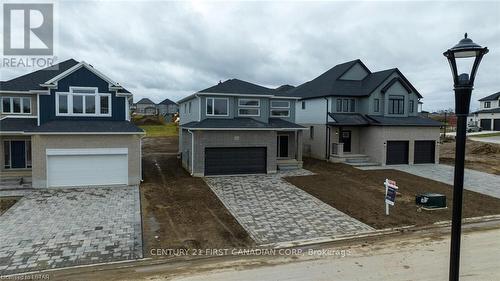
[[[205,148],[205,175],[266,173],[265,147]]]

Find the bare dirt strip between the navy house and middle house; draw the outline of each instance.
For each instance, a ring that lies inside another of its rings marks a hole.
[[[205,182],[181,167],[177,146],[177,137],[143,139],[144,255],[158,257],[151,254],[152,249],[253,246],[253,240]]]

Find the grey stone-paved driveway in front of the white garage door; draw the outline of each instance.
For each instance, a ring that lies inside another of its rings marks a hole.
[[[36,190],[0,216],[0,276],[142,257],[139,188]]]

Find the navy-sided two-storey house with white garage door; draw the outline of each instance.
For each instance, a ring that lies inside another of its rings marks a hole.
[[[0,84],[2,180],[35,188],[136,185],[141,137],[132,94],[73,59]]]

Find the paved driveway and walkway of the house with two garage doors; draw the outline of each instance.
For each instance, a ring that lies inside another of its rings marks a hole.
[[[419,177],[453,185],[454,168],[442,164],[391,165],[358,167],[362,170],[395,169]],[[465,169],[464,188],[492,197],[500,198],[500,176]]]

